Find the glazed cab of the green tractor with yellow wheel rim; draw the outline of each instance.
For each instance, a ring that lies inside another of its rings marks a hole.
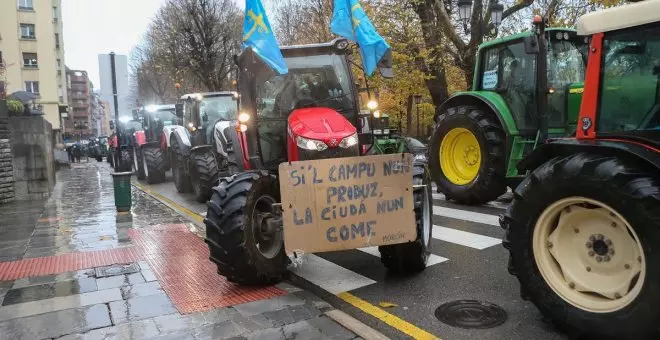
[[[535,136],[539,130],[537,62],[539,32],[523,32],[483,44],[479,48],[474,91],[498,93],[508,106],[511,118],[522,135]],[[543,34],[543,33],[541,33]],[[550,28],[544,33],[548,88],[548,128],[564,134],[567,125],[575,129],[584,87],[588,39],[575,30]]]

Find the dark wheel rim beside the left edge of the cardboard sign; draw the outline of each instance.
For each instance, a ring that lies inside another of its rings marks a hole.
[[[277,201],[270,195],[262,195],[254,203],[252,210],[252,233],[255,239],[255,246],[261,255],[265,258],[272,259],[279,254],[284,244],[282,231],[276,231],[271,234],[266,234],[262,231],[262,219],[259,218],[261,214],[268,214],[271,212],[271,207]]]

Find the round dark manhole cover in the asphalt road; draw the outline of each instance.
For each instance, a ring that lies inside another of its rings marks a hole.
[[[506,321],[506,311],[500,306],[476,300],[448,302],[435,310],[435,317],[459,328],[492,328]]]

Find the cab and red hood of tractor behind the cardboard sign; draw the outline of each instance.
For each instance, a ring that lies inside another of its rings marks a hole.
[[[250,49],[237,57],[239,129],[250,168],[286,161],[359,155],[358,96],[348,41],[281,48],[278,75]],[[356,128],[357,127],[357,128]]]

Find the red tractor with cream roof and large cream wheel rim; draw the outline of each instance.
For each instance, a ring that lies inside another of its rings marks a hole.
[[[500,223],[521,295],[574,336],[660,338],[660,1],[589,13],[574,138],[549,140]]]

